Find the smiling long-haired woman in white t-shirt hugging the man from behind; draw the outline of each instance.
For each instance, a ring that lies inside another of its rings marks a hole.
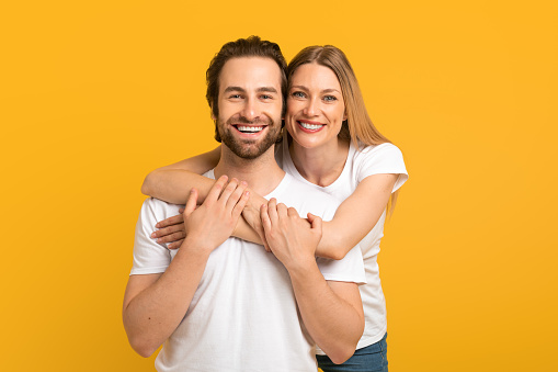
[[[367,284],[360,288],[366,325],[355,354],[337,365],[318,349],[318,364],[324,372],[387,371],[386,306],[377,253],[388,204],[394,206],[397,190],[408,178],[402,155],[369,120],[353,69],[340,49],[303,49],[288,65],[287,77],[288,134],[276,147],[277,162],[299,181],[343,201],[334,218],[323,224],[317,255],[340,259],[360,243],[367,277]],[[218,156],[216,149],[156,170],[146,178],[143,192],[169,202],[183,201],[184,180],[198,189],[209,183],[190,172],[212,169]],[[251,200],[251,205],[258,211],[262,199]],[[243,215],[263,236],[259,215]],[[160,243],[180,240],[184,236],[181,221],[176,216],[159,223],[157,227],[164,228],[153,237]],[[179,246],[175,241],[169,248]]]

